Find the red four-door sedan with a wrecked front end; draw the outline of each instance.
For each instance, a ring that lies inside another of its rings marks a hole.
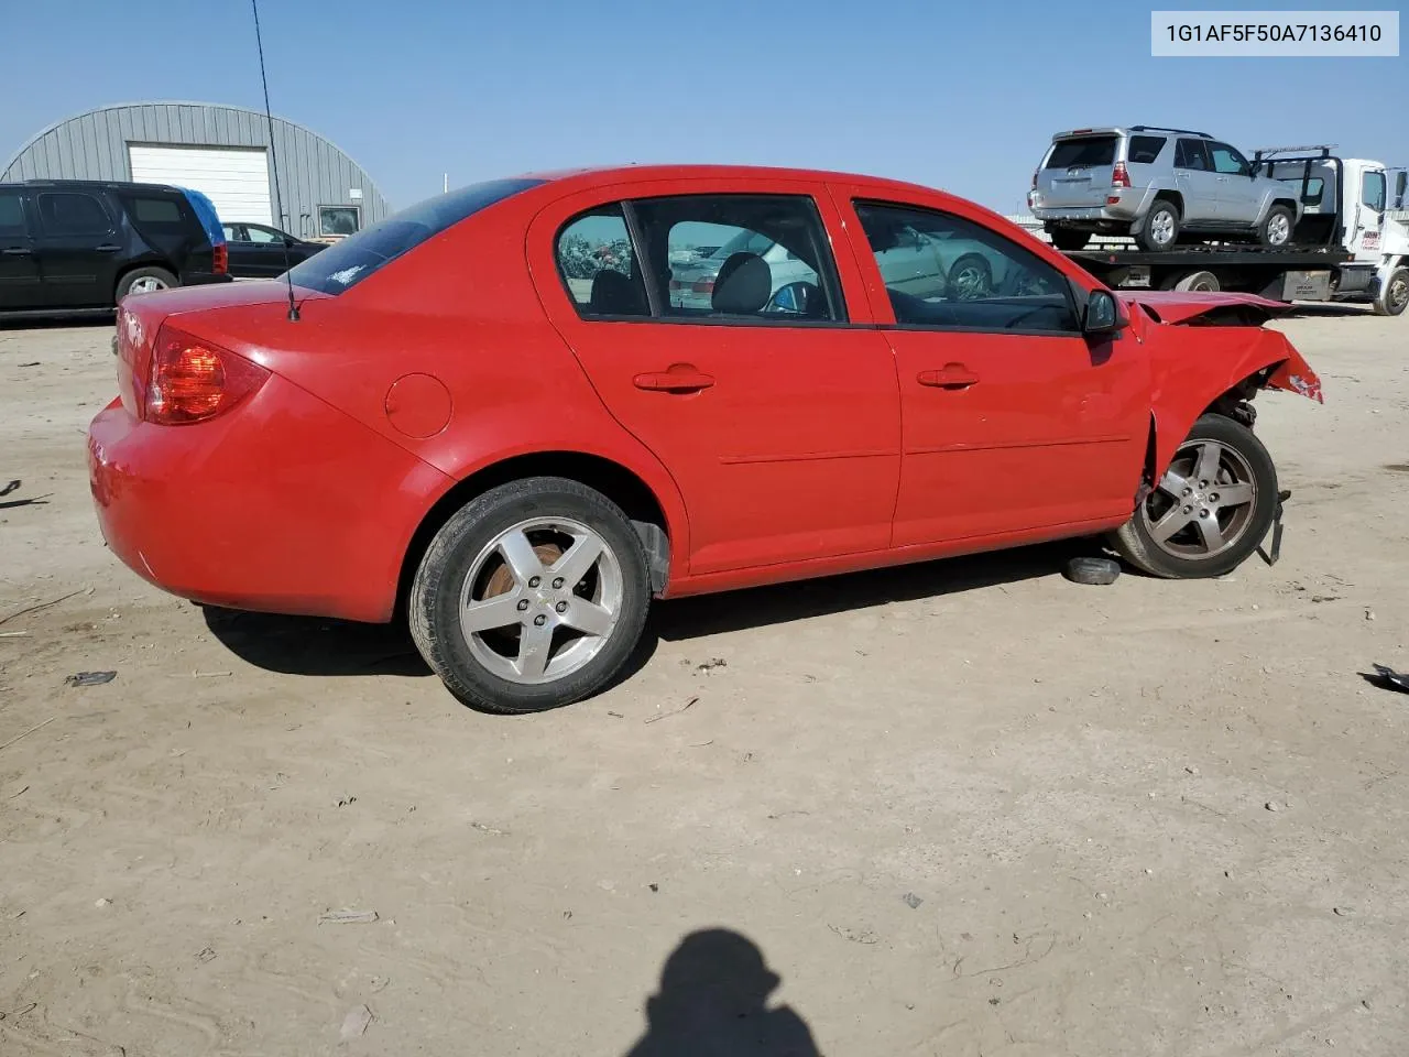
[[[707,297],[671,297],[730,244]],[[1229,572],[1278,503],[1248,402],[1320,399],[1270,302],[1117,299],[988,210],[861,176],[495,180],[290,278],[123,303],[103,534],[210,605],[404,605],[500,712],[600,689],[652,598],[1096,533]]]

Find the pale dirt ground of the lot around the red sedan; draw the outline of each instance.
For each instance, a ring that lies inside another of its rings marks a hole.
[[[1260,400],[1275,568],[666,603],[523,719],[144,585],[85,472],[110,327],[0,330],[0,1053],[1402,1054],[1409,696],[1360,674],[1409,669],[1409,320],[1281,326],[1326,406]]]

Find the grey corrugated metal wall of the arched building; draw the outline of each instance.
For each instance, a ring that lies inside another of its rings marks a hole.
[[[0,182],[30,179],[128,180],[128,144],[180,147],[269,147],[265,116],[211,103],[132,103],[103,107],[45,130],[0,172]],[[361,206],[362,227],[392,210],[372,178],[321,135],[273,120],[279,155],[280,225],[317,234],[318,206]],[[269,179],[273,190],[273,176]],[[349,192],[361,187],[362,200]],[[271,194],[271,197],[273,197]]]

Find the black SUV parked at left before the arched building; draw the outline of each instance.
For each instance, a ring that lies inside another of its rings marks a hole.
[[[0,183],[0,316],[111,310],[130,293],[230,282],[210,199],[158,183]]]

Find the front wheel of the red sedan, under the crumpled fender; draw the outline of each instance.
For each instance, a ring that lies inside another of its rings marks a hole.
[[[1277,503],[1277,466],[1262,443],[1231,419],[1205,414],[1110,544],[1154,576],[1222,576],[1262,543]]]

